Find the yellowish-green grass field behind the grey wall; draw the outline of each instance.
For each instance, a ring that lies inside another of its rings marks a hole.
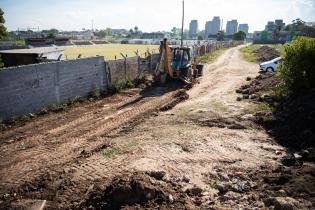
[[[104,56],[105,60],[114,60],[115,56],[117,59],[121,59],[122,56],[127,54],[128,57],[134,57],[135,52],[138,50],[139,55],[144,57],[145,52],[149,50],[151,53],[159,52],[158,45],[135,45],[135,44],[108,44],[108,45],[92,45],[92,46],[77,46],[69,47],[65,49],[66,59],[75,59],[79,54],[83,58],[92,57],[92,56]]]

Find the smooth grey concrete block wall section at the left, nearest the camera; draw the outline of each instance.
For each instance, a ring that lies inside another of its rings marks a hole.
[[[0,118],[36,112],[107,85],[102,56],[7,68],[0,71]]]

